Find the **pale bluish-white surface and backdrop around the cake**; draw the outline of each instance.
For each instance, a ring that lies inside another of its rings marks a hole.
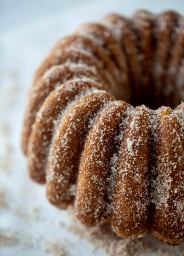
[[[0,256],[59,256],[49,252],[48,244],[66,244],[66,239],[73,256],[106,255],[102,249],[92,252],[92,245],[69,232],[68,213],[52,207],[44,186],[28,178],[20,148],[28,88],[34,70],[57,39],[81,23],[96,21],[108,12],[130,15],[138,8],[175,9],[184,14],[184,1],[1,0],[0,5],[0,235],[12,237],[5,245],[0,236]],[[2,207],[3,196],[7,205]],[[155,240],[155,246],[160,244]],[[181,254],[175,248],[173,255]]]

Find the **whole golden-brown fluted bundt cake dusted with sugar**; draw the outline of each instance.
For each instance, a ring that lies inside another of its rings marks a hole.
[[[82,25],[36,71],[22,136],[30,177],[56,207],[74,202],[83,224],[178,245],[182,101],[184,17],[140,10]]]

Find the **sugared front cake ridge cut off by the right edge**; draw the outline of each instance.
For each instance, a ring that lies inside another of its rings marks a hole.
[[[158,157],[153,169],[151,232],[168,244],[183,240],[184,130],[180,115],[168,107],[160,109],[155,141]]]

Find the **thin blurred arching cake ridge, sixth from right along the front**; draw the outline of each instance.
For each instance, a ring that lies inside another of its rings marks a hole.
[[[76,65],[76,64],[63,64],[53,66],[48,73],[42,76],[38,81],[33,84],[30,90],[30,98],[28,106],[26,108],[26,114],[23,124],[23,135],[22,135],[22,148],[24,154],[27,152],[28,140],[31,134],[31,126],[35,122],[36,113],[42,106],[42,103],[46,97],[54,90],[58,85],[75,79],[87,77],[94,79],[106,88],[105,81],[96,72],[95,68],[91,69],[87,65]]]

